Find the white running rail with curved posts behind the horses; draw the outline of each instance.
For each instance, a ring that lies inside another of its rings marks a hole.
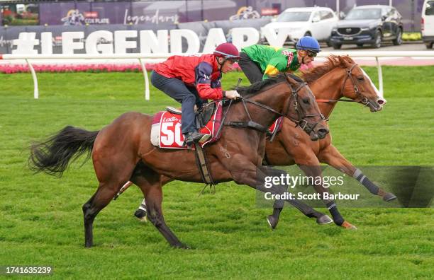
[[[320,52],[318,57],[328,57],[330,54],[335,55],[349,55],[352,58],[372,58],[374,57],[377,62],[378,69],[378,83],[379,92],[383,93],[383,74],[382,65],[380,63],[381,57],[433,57],[434,51],[356,51],[356,52]],[[33,77],[33,96],[35,99],[39,98],[38,77],[36,76],[35,69],[32,63],[35,61],[45,60],[63,60],[65,59],[133,59],[137,60],[143,70],[143,78],[145,80],[145,100],[150,100],[149,91],[149,78],[148,72],[145,67],[145,62],[155,62],[155,59],[167,59],[174,54],[0,54],[0,59],[3,60],[24,60],[30,69]],[[183,55],[183,54],[180,54]],[[185,54],[184,54],[185,55]],[[96,62],[98,63],[98,62]]]

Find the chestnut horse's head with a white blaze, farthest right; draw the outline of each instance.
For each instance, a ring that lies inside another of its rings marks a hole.
[[[338,57],[340,65],[345,68],[342,95],[357,100],[369,107],[371,112],[382,110],[386,100],[372,83],[371,78],[350,57]]]

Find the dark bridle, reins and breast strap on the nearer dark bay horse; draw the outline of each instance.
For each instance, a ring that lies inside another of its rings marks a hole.
[[[286,76],[286,74],[285,74],[285,76]],[[288,83],[289,88],[291,88],[291,97],[289,98],[289,101],[288,101],[289,105],[286,107],[285,113],[277,112],[277,110],[274,110],[272,107],[269,107],[269,106],[264,105],[262,103],[258,103],[254,100],[250,100],[249,98],[240,97],[240,100],[243,102],[243,107],[244,107],[244,110],[247,114],[247,117],[249,117],[249,121],[248,122],[229,122],[228,125],[231,127],[248,127],[251,129],[257,129],[260,132],[267,132],[268,127],[264,127],[262,124],[258,124],[257,122],[254,122],[252,120],[250,112],[247,109],[247,103],[250,103],[250,104],[256,105],[257,107],[261,107],[261,108],[267,110],[268,112],[273,112],[274,114],[278,115],[279,117],[286,117],[287,119],[290,119],[292,122],[294,122],[296,124],[296,127],[300,127],[306,133],[310,134],[313,131],[313,129],[315,129],[315,127],[318,125],[318,123],[321,122],[321,120],[325,119],[325,117],[321,113],[319,113],[319,114],[305,114],[304,110],[302,110],[301,106],[299,105],[299,94],[298,93],[301,90],[301,88],[304,88],[305,86],[307,86],[307,83],[298,83],[299,86],[297,88],[294,88],[293,86],[291,86],[291,83],[289,81],[288,76],[286,76],[286,82]],[[293,100],[293,101],[291,101],[291,100]],[[232,103],[233,103],[233,100],[230,100],[228,110],[229,110],[229,107]],[[298,115],[298,119],[294,119],[294,117],[291,117],[289,115],[289,110],[291,109],[291,105],[294,108],[294,110],[296,111],[296,113]],[[227,114],[228,110],[226,111],[226,114]],[[223,123],[224,123],[224,118],[226,117],[226,114],[223,116],[223,119],[222,119]],[[316,122],[315,124],[309,125],[308,121],[306,120],[308,117],[321,117],[321,119],[318,122]]]

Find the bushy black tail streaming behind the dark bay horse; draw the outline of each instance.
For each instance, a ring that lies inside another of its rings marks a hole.
[[[48,140],[30,146],[28,165],[35,173],[41,171],[61,177],[69,161],[87,152],[90,158],[98,132],[67,126]]]

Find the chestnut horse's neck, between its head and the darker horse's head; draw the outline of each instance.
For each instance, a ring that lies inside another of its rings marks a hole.
[[[308,85],[316,99],[338,100],[342,98],[343,74],[341,72],[343,73],[342,69],[336,67]],[[318,108],[325,117],[328,117],[336,104],[337,102],[320,102]]]

